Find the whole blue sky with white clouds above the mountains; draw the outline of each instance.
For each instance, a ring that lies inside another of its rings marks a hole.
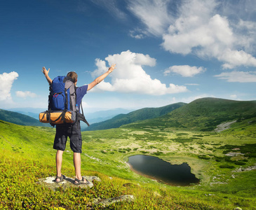
[[[255,100],[256,1],[1,1],[1,109],[47,108],[50,78],[78,85],[116,69],[83,99],[88,112],[201,97]]]

